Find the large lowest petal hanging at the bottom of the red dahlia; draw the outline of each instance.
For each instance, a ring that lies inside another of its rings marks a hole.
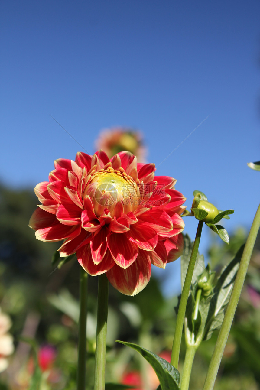
[[[124,269],[117,264],[106,273],[111,285],[125,295],[138,294],[150,280],[151,261],[149,253],[140,250],[136,261]]]

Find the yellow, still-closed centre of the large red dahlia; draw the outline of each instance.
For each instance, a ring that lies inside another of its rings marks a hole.
[[[90,179],[88,187],[92,187],[92,202],[97,216],[100,216],[105,208],[110,211],[112,217],[120,216],[117,209],[114,211],[117,202],[122,203],[124,213],[135,211],[140,204],[137,184],[123,168],[119,169],[101,169]]]

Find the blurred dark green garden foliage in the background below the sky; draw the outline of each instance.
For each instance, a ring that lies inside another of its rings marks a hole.
[[[37,198],[31,190],[12,190],[0,186],[0,307],[12,318],[11,333],[16,350],[7,370],[0,374],[0,390],[27,390],[32,384],[35,363],[25,336],[42,345],[51,344],[57,353],[47,370],[42,369],[40,390],[74,390],[77,362],[77,321],[80,265],[71,260],[60,269],[51,266],[59,243],[42,243],[28,227]],[[216,235],[215,235],[216,236]],[[208,258],[212,270],[232,260],[246,241],[247,232],[237,229],[230,245],[214,239]],[[216,237],[217,238],[217,237]],[[179,261],[179,260],[177,260]],[[171,265],[168,264],[168,267]],[[166,266],[167,267],[167,266]],[[97,277],[89,278],[87,319],[87,389],[94,372]],[[166,298],[159,281],[151,278],[135,297],[124,296],[110,286],[106,381],[122,383],[127,372],[138,372],[146,387],[158,383],[149,365],[137,353],[116,339],[134,342],[160,355],[172,348],[177,297]],[[203,341],[195,356],[191,385],[201,390],[217,333]],[[215,390],[260,389],[260,236],[255,245],[246,284],[225,349]],[[181,358],[184,358],[182,343]],[[182,363],[179,369],[182,369]],[[130,384],[130,383],[129,383]]]

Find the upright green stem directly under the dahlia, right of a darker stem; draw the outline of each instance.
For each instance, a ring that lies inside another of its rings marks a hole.
[[[108,322],[108,278],[103,273],[98,278],[97,334],[94,370],[94,390],[105,388],[106,328]]]

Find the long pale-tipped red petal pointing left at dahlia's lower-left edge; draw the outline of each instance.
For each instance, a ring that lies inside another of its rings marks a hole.
[[[52,214],[53,215],[53,214]],[[39,229],[35,232],[35,236],[40,241],[57,242],[66,238],[76,237],[80,234],[81,227],[62,225],[60,222],[55,222],[50,227]]]

